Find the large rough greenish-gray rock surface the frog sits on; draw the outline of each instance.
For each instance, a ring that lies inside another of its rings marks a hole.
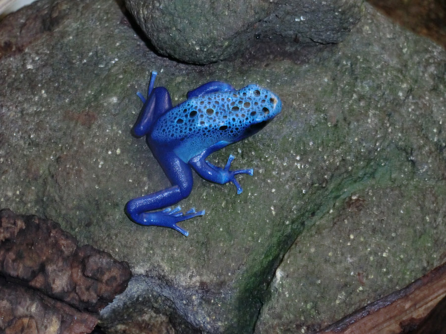
[[[368,5],[362,15],[337,45],[264,41],[207,66],[151,51],[115,2],[41,0],[6,17],[0,207],[129,262],[137,276],[101,313],[114,333],[305,332],[409,284],[445,260],[446,52]],[[188,238],[123,212],[168,186],[130,135],[152,70],[174,104],[211,80],[283,102],[211,156],[254,168],[241,195],[195,178],[180,205],[206,215],[183,223]]]

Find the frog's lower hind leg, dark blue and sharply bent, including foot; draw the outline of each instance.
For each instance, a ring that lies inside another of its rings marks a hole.
[[[187,164],[179,159],[173,159],[169,160],[168,163],[164,161],[163,168],[165,171],[173,168],[177,173],[176,175],[168,175],[172,187],[128,201],[125,205],[125,212],[137,224],[168,227],[187,237],[189,233],[176,224],[196,216],[203,216],[205,214],[204,210],[196,212],[192,208],[183,214],[180,212],[180,207],[176,207],[173,210],[167,208],[162,211],[148,212],[174,205],[181,199],[186,198],[192,191],[192,171]]]

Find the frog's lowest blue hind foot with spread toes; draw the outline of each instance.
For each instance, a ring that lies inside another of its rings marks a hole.
[[[188,236],[189,232],[180,228],[176,225],[183,220],[187,220],[190,218],[194,218],[196,216],[203,216],[205,214],[205,210],[195,211],[195,208],[190,209],[186,213],[181,212],[181,208],[177,206],[174,209],[164,209],[162,211],[157,212],[143,212],[137,215],[137,217],[133,217],[134,222],[144,226],[162,226],[168,227],[178,231],[184,236]]]

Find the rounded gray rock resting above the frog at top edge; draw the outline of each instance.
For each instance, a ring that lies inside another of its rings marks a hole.
[[[277,46],[339,43],[359,20],[362,1],[126,0],[126,6],[160,53],[208,64],[265,39]]]

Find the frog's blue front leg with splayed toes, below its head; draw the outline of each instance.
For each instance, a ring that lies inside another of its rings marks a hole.
[[[230,154],[227,158],[226,165],[223,168],[217,167],[206,160],[208,155],[215,150],[216,149],[212,149],[211,152],[204,151],[201,154],[194,156],[192,159],[189,160],[189,164],[203,179],[221,185],[232,182],[237,188],[237,194],[242,193],[243,189],[241,188],[238,181],[235,179],[235,175],[249,174],[252,176],[253,169],[239,169],[235,171],[229,170],[231,163],[234,160],[234,156],[232,154]]]

